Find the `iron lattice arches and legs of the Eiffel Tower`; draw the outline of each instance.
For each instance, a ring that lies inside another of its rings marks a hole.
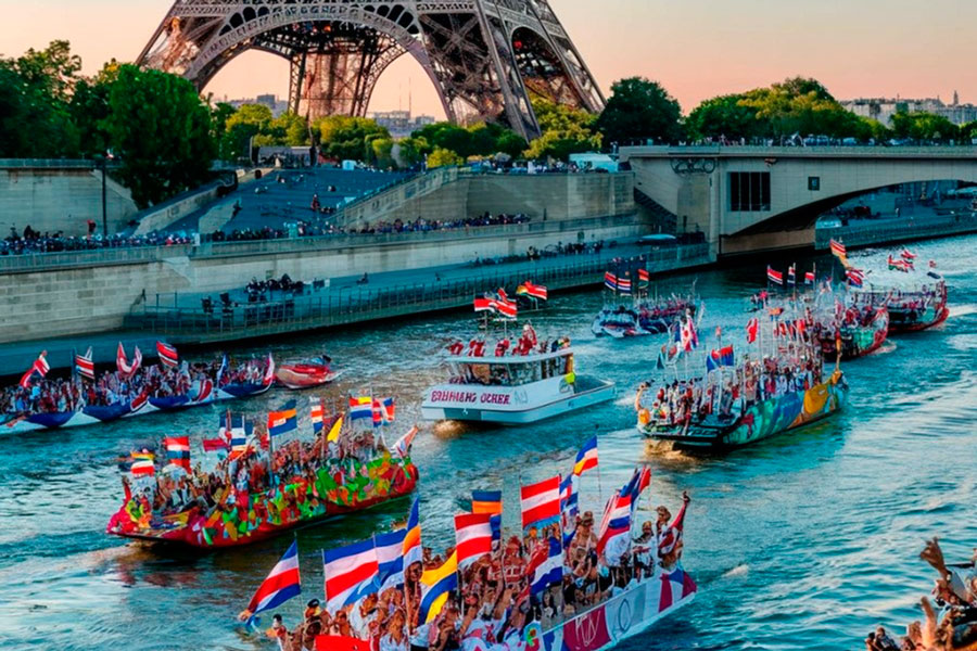
[[[404,54],[449,120],[507,124],[533,138],[534,95],[597,112],[604,97],[547,0],[176,0],[138,63],[202,90],[248,50],[290,62],[290,108],[365,116]]]

